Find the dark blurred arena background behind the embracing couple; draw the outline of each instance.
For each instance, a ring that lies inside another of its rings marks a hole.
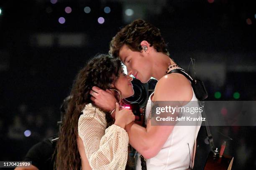
[[[67,6],[71,13],[65,13]],[[0,0],[0,9],[2,161],[22,160],[32,145],[58,132],[59,106],[79,68],[96,53],[108,53],[111,38],[137,18],[161,30],[171,57],[184,69],[195,58],[208,100],[256,99],[253,0]],[[125,15],[127,9],[133,15]],[[31,135],[25,137],[25,130]],[[255,130],[213,127],[216,145],[222,142],[218,131],[233,138],[225,150],[235,157],[233,170],[256,168]]]

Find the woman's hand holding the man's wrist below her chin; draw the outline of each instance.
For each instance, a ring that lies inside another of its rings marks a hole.
[[[126,125],[135,120],[135,115],[133,115],[133,112],[131,110],[119,110],[120,106],[117,102],[115,103],[115,106],[115,125],[118,125],[121,128],[125,128]]]

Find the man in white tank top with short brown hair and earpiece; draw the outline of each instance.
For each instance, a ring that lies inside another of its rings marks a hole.
[[[134,122],[125,127],[129,135],[129,143],[146,158],[147,169],[191,168],[193,147],[201,124],[199,126],[151,125],[149,116],[151,101],[179,101],[179,106],[197,101],[191,83],[184,75],[166,74],[180,67],[169,57],[159,29],[143,20],[133,21],[113,37],[110,42],[110,54],[119,57],[127,67],[128,74],[134,75],[142,83],[148,82],[151,77],[158,80],[154,93],[148,99],[146,128]],[[92,87],[92,90],[95,91],[91,98],[95,105],[104,110],[115,109],[115,100],[108,91],[98,87]],[[92,91],[90,93],[92,94]],[[141,169],[140,161],[136,169]]]

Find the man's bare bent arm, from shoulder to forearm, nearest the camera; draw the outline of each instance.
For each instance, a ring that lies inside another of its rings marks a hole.
[[[184,76],[166,75],[156,85],[154,101],[189,101],[191,92],[191,85]],[[159,153],[173,128],[174,126],[151,126],[151,120],[148,120],[147,128],[130,123],[125,130],[133,148],[149,159]]]

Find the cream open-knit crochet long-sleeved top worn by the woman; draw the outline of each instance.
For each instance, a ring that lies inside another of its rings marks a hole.
[[[87,104],[78,121],[78,134],[92,170],[124,170],[128,156],[128,134],[117,125],[107,127],[105,113]]]

